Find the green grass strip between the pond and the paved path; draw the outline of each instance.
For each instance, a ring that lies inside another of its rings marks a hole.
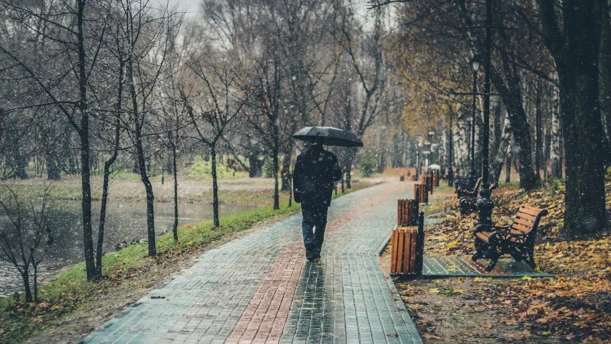
[[[343,195],[370,185],[354,184],[353,189]],[[342,193],[334,195],[334,198],[339,196]],[[72,317],[79,311],[92,309],[95,302],[105,299],[106,295],[121,286],[142,288],[139,283],[143,280],[149,284],[161,282],[163,278],[154,273],[158,266],[174,264],[172,271],[178,271],[182,266],[180,257],[200,254],[213,241],[247,230],[263,220],[294,214],[300,209],[299,204],[293,203],[293,206],[288,207],[287,202],[282,202],[277,210],[272,206],[263,206],[221,217],[221,226],[218,228],[214,228],[211,220],[180,226],[178,242],[174,242],[171,232],[157,237],[158,255],[155,257],[147,256],[146,243],[130,245],[105,255],[104,279],[97,283],[87,282],[84,263],[70,266],[52,282],[40,286],[41,302],[38,304],[26,304],[13,297],[0,299],[0,342],[26,342],[46,329],[56,329],[66,316]],[[20,299],[23,299],[23,294]]]

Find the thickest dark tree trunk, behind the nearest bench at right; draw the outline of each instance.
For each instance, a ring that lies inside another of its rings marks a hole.
[[[560,116],[565,141],[567,239],[604,230],[604,159],[598,107],[598,35],[593,2],[576,2],[565,13],[565,48],[557,60]],[[560,62],[560,63],[558,63]]]

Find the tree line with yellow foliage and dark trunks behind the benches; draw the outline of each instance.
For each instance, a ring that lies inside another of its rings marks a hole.
[[[491,1],[491,121],[483,128],[477,97],[476,166],[480,132],[490,135],[491,180],[511,164],[525,190],[541,178],[565,177],[565,219],[560,236],[602,233],[607,226],[605,168],[611,165],[607,1]],[[393,6],[395,69],[409,101],[412,133],[433,130],[447,165],[466,171],[471,145],[470,61],[483,62],[486,1],[370,1]],[[475,85],[481,94],[483,78]],[[476,92],[476,93],[477,93]],[[413,114],[422,114],[414,116]],[[443,125],[439,125],[439,123]],[[415,142],[414,144],[417,144]],[[452,147],[452,149],[449,149]],[[451,153],[451,154],[450,154]]]

